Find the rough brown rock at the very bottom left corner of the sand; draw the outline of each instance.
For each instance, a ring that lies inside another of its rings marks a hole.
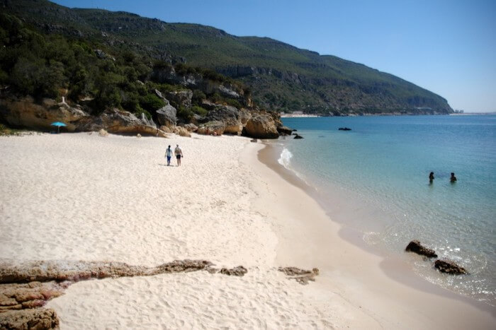
[[[59,329],[59,318],[51,308],[11,310],[0,315],[0,329]]]

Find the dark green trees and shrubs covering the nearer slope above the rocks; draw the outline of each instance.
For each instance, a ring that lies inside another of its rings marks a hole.
[[[180,84],[154,79],[154,71],[176,76],[193,75],[212,83],[229,83],[244,95],[243,86],[210,69],[193,68],[178,63],[153,59],[133,47],[106,45],[95,38],[45,33],[23,23],[8,13],[0,13],[0,85],[21,95],[60,99],[65,96],[85,105],[90,114],[98,115],[111,107],[133,112],[148,119],[164,107],[156,90],[168,93],[184,90]],[[242,107],[242,98],[227,98],[212,91],[209,95],[193,90],[193,105],[177,105],[184,120],[194,113],[205,115],[203,100]]]

